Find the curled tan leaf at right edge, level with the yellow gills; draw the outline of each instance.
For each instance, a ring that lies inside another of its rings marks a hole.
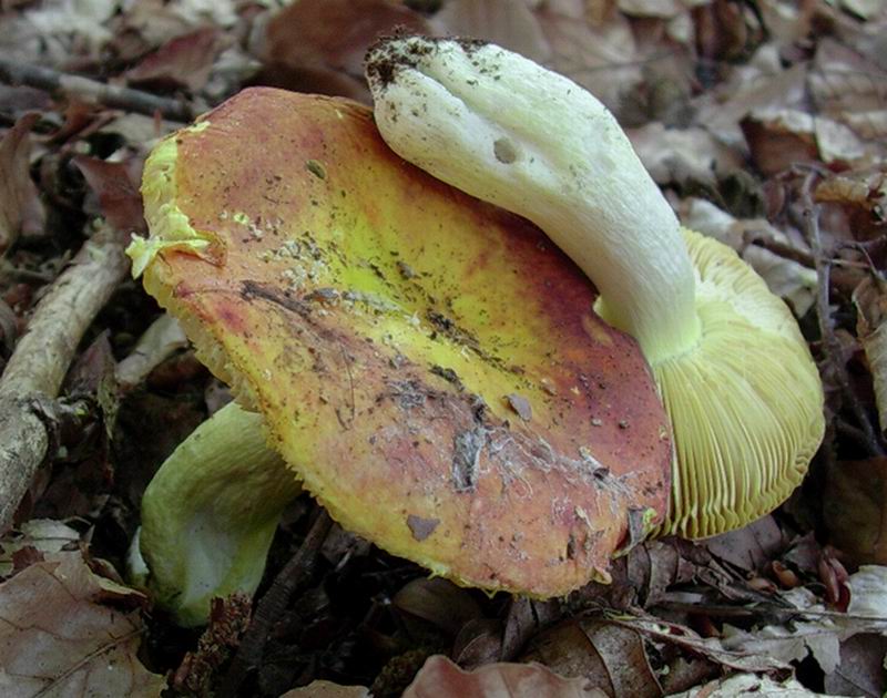
[[[863,345],[875,387],[878,423],[887,431],[887,281],[870,276],[853,294],[856,335]]]

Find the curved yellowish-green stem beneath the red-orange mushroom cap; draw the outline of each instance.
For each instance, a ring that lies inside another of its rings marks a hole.
[[[262,418],[222,408],[163,463],[142,499],[139,545],[157,603],[182,625],[210,602],[252,594],[286,504],[300,485],[265,443]]]

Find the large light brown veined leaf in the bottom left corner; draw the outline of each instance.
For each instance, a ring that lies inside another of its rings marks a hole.
[[[96,576],[81,553],[54,553],[0,585],[0,695],[156,698],[163,677],[135,656],[137,610],[104,606],[141,595]]]

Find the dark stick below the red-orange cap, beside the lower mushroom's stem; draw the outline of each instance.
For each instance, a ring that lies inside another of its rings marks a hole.
[[[265,651],[272,626],[277,623],[286,610],[289,599],[296,591],[305,584],[314,573],[320,546],[324,544],[333,520],[325,509],[320,509],[317,519],[312,524],[308,535],[302,542],[298,551],[274,578],[271,588],[258,602],[253,622],[244,635],[237,654],[222,680],[220,698],[233,698],[243,684],[246,675],[256,668]]]

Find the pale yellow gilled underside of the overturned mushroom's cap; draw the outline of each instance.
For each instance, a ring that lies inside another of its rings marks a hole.
[[[788,499],[823,440],[825,415],[819,372],[788,306],[731,247],[682,233],[701,335],[653,363],[676,452],[661,531],[700,538]]]

